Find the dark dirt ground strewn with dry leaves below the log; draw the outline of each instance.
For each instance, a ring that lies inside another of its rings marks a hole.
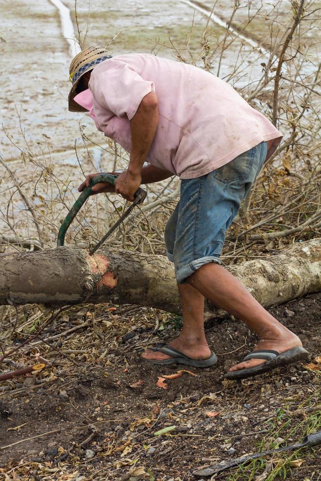
[[[270,312],[300,336],[311,360],[320,355],[321,294]],[[160,330],[153,335],[156,319]],[[86,326],[78,328],[84,322]],[[41,333],[46,343],[29,343],[21,349],[23,355],[21,350],[12,354],[16,362],[45,358],[48,364],[40,373],[1,383],[10,386],[0,393],[1,479],[208,479],[193,472],[294,444],[321,430],[317,361],[309,368],[298,363],[240,383],[223,379],[230,365],[255,344],[252,332],[228,315],[219,323],[207,323],[217,365],[187,368],[195,375],[183,373],[166,379],[167,389],[158,387],[159,376],[184,366],[149,365],[139,352],[173,338],[180,324],[179,317],[153,309],[75,306]],[[67,332],[73,327],[74,332]],[[12,347],[26,340],[24,331]],[[53,334],[58,337],[48,339]],[[320,453],[321,447],[264,457],[224,471],[217,479],[319,480]],[[257,478],[263,472],[265,477]]]

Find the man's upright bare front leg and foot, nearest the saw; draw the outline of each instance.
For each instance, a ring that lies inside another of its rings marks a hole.
[[[178,349],[192,359],[207,359],[211,355],[204,333],[204,296],[188,284],[178,285],[183,309],[183,328],[169,346]],[[170,356],[162,352],[146,350],[143,359],[163,360]]]

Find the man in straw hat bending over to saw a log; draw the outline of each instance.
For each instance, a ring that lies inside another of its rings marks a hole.
[[[183,329],[169,345],[147,349],[155,364],[209,367],[217,358],[204,333],[204,297],[258,334],[254,351],[233,366],[235,379],[267,372],[307,356],[299,338],[274,319],[221,266],[226,229],[282,135],[227,83],[196,67],[143,53],[111,57],[100,47],[70,66],[69,110],[88,111],[98,130],[130,152],[115,187],[133,201],[140,184],[172,175],[180,201],[165,229],[183,310]],[[148,166],[143,166],[148,162]],[[79,190],[88,186],[86,177]]]

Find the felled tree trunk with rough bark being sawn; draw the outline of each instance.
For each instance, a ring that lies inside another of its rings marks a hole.
[[[321,291],[321,239],[228,267],[265,307]],[[180,313],[172,264],[163,256],[58,247],[0,255],[0,304],[138,304]],[[217,314],[206,307],[207,317]]]

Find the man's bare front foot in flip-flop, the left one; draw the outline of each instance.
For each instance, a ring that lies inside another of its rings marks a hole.
[[[208,359],[211,356],[211,349],[208,347],[206,340],[199,340],[198,338],[185,338],[180,335],[174,339],[168,346],[178,349],[186,354],[191,359]],[[162,352],[153,351],[147,349],[142,353],[143,359],[153,359],[153,361],[163,361],[164,359],[170,359],[171,356],[167,356]]]

